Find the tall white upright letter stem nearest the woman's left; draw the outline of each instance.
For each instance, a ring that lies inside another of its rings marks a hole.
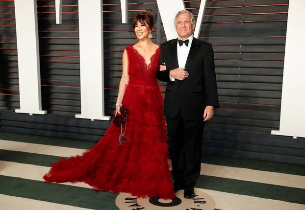
[[[110,120],[104,116],[104,54],[102,0],[78,0],[81,114],[77,118]]]

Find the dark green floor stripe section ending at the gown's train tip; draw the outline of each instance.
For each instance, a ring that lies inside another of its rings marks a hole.
[[[0,149],[0,160],[32,165],[50,166],[51,163],[58,161],[59,157]]]

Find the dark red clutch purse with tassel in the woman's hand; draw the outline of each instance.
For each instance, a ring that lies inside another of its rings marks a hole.
[[[129,110],[127,110],[125,107],[120,108],[121,115],[117,114],[113,119],[113,124],[115,124],[118,127],[121,127],[121,134],[119,136],[119,144],[122,146],[126,140],[129,140],[127,136],[125,136],[126,133],[126,127],[127,127],[127,118]],[[123,125],[125,124],[125,129],[123,132]]]

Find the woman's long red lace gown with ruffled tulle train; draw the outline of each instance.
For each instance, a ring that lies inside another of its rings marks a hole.
[[[96,190],[127,192],[139,198],[172,199],[163,98],[155,77],[160,47],[148,66],[136,49],[126,49],[129,83],[122,103],[129,110],[126,136],[130,141],[120,146],[120,128],[111,123],[91,149],[81,156],[60,158],[43,178],[56,183],[84,182]]]

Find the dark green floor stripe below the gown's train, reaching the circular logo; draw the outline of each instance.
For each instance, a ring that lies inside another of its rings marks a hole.
[[[92,189],[0,176],[0,193],[95,210],[119,210],[117,194]]]

